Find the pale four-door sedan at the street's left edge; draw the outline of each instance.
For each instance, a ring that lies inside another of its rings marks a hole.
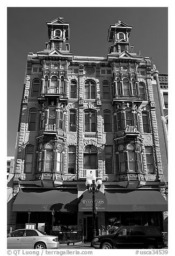
[[[18,229],[8,234],[8,249],[56,249],[59,239],[36,229]]]

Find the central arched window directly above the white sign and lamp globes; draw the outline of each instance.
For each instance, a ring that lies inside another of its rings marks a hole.
[[[83,169],[97,169],[97,150],[92,145],[84,149]]]

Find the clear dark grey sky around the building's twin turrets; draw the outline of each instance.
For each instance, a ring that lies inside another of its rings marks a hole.
[[[118,20],[132,25],[129,41],[134,52],[149,56],[159,73],[167,74],[167,8],[165,7],[14,7],[8,8],[7,93],[8,155],[14,155],[20,101],[28,52],[37,53],[48,41],[47,25],[63,17],[70,24],[70,52],[107,56],[107,32]]]

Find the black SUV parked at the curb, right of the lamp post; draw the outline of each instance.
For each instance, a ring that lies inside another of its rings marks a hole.
[[[156,226],[121,226],[113,234],[96,236],[91,246],[100,249],[163,248],[162,232]]]

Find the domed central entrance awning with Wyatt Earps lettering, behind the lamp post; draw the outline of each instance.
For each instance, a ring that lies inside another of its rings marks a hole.
[[[85,191],[79,200],[78,211],[92,211],[92,193]],[[106,196],[101,191],[95,193],[95,205],[96,211],[107,211]]]

